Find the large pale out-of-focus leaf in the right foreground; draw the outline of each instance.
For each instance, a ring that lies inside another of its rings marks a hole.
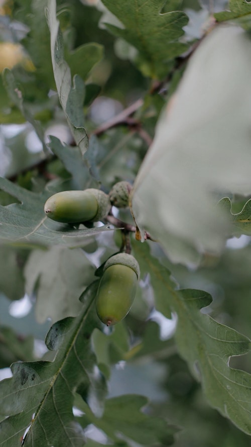
[[[250,194],[250,70],[248,36],[236,27],[213,30],[191,57],[142,163],[133,212],[142,236],[145,228],[173,262],[220,253],[229,224],[218,199],[226,191]]]

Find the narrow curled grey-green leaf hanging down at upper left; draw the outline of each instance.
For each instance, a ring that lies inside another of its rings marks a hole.
[[[46,9],[51,33],[51,55],[59,101],[67,118],[72,135],[82,154],[88,148],[88,136],[84,129],[84,82],[77,74],[71,80],[69,65],[64,60],[64,43],[59,21],[56,17],[56,0],[51,0]],[[98,55],[99,60],[99,55]],[[89,66],[88,66],[89,67]]]

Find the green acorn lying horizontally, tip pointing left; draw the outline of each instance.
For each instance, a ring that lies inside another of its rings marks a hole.
[[[45,203],[45,214],[63,223],[98,222],[110,209],[107,194],[95,188],[84,191],[62,191]]]

